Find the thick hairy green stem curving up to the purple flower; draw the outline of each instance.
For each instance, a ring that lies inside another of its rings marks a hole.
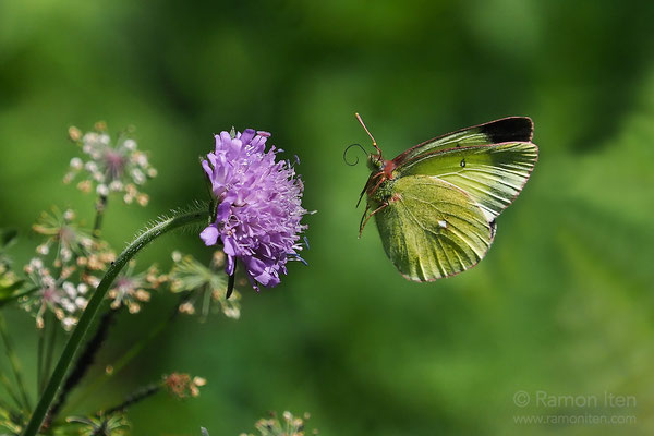
[[[105,277],[98,284],[95,293],[90,298],[86,310],[80,317],[80,322],[77,326],[73,330],[63,352],[61,353],[61,358],[55,367],[55,372],[46,386],[46,390],[44,391],[41,398],[29,419],[29,423],[23,433],[23,436],[35,436],[48,413],[48,409],[61,386],[63,378],[65,377],[65,373],[75,358],[75,353],[80,348],[84,337],[86,336],[86,331],[88,327],[93,323],[93,319],[98,312],[102,301],[105,300],[105,294],[109,290],[109,287],[120,272],[120,270],[130,262],[132,257],[136,255],[145,245],[149,242],[154,241],[161,234],[169,232],[170,230],[184,227],[192,223],[199,223],[208,220],[208,214],[206,211],[199,211],[201,209],[195,209],[189,213],[179,213],[172,216],[171,218],[167,218],[156,223],[155,226],[145,230],[141,235],[138,235],[128,247],[118,256],[116,262],[111,264]]]

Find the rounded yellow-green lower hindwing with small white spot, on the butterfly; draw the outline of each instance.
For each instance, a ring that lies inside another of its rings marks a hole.
[[[384,250],[415,281],[453,276],[484,257],[492,226],[462,190],[427,175],[392,182],[388,206],[375,215]]]

